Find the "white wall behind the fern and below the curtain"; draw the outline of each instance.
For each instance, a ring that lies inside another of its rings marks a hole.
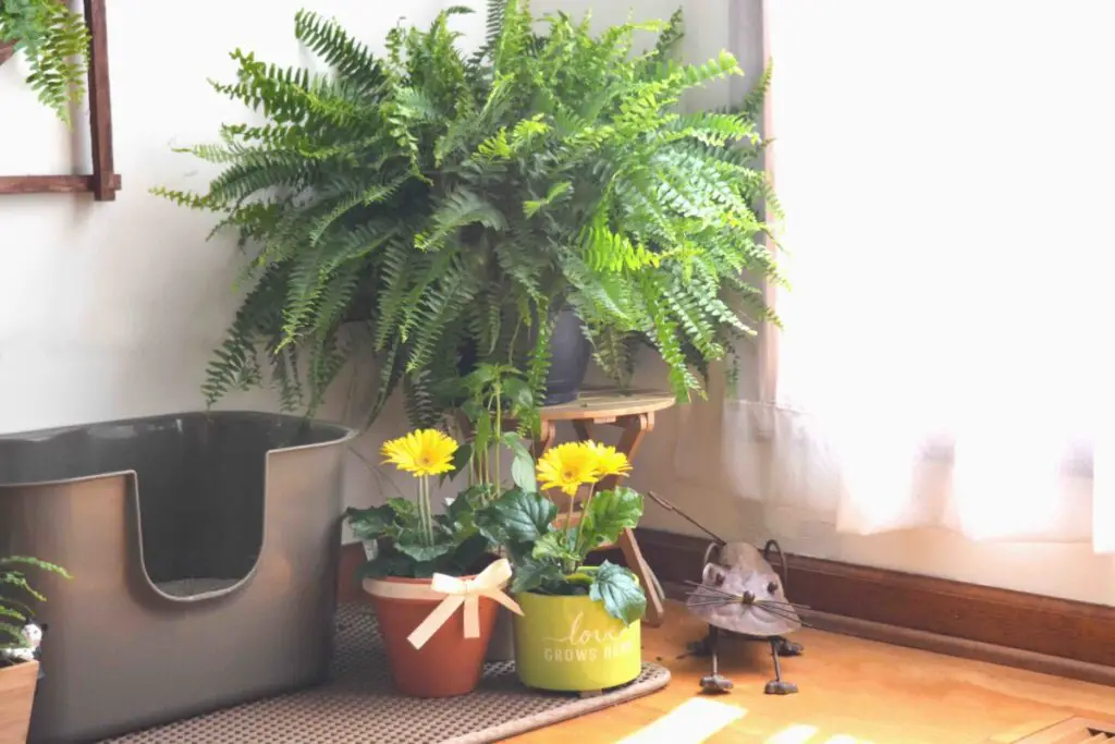
[[[665,19],[681,1],[631,4],[636,19]],[[237,46],[281,64],[307,62],[292,35],[300,7],[338,16],[378,47],[403,12],[425,23],[449,4],[454,0],[408,0],[385,10],[381,3],[345,0],[195,0],[187,12],[168,16],[164,3],[151,0],[108,3],[116,162],[124,190],[105,204],[87,196],[0,196],[0,433],[200,408],[204,367],[236,308],[230,286],[239,257],[229,240],[203,242],[211,216],[151,196],[148,189],[202,189],[212,175],[171,152],[173,145],[209,141],[222,122],[242,116],[206,78],[230,78],[234,66],[227,52]],[[689,59],[730,47],[749,75],[758,71],[758,0],[685,4]],[[617,22],[628,3],[535,2],[540,11],[580,13],[590,7],[598,22]],[[469,39],[479,38],[479,15],[457,23]],[[84,138],[74,137],[71,153],[71,137],[22,87],[21,71],[19,62],[0,68],[0,172],[65,173],[75,158],[84,163]],[[716,105],[726,96],[727,88],[714,88],[694,103]],[[648,363],[640,377],[659,384],[659,371]],[[224,406],[269,408],[273,402],[252,394]],[[756,501],[687,483],[673,466],[679,414],[660,416],[634,485],[659,490],[725,537],[776,537],[806,554],[1115,605],[1115,562],[1090,555],[1086,545],[976,545],[928,531],[837,535],[815,516],[775,513]],[[329,415],[342,417],[343,402]],[[379,443],[405,427],[395,407],[356,450],[375,464]],[[349,465],[351,504],[375,503],[406,487],[374,474],[355,454]],[[692,532],[655,506],[648,506],[646,524]]]

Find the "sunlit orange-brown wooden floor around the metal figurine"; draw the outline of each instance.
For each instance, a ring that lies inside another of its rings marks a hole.
[[[802,630],[805,655],[783,663],[801,692],[767,696],[768,646],[721,644],[727,694],[698,694],[708,659],[678,658],[704,627],[677,602],[643,630],[643,658],[670,686],[623,706],[512,740],[515,744],[978,744],[1014,742],[1064,718],[1115,719],[1115,688],[969,661],[846,636]]]

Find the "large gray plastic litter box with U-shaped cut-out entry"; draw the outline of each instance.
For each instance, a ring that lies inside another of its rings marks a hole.
[[[32,577],[47,632],[29,741],[323,679],[353,435],[222,412],[0,436],[0,555],[74,576]]]

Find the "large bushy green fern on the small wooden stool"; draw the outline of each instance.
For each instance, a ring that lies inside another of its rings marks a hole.
[[[525,0],[489,0],[466,55],[449,29],[466,12],[394,29],[382,57],[300,12],[295,35],[328,75],[233,52],[237,81],[214,87],[265,123],[186,151],[223,168],[205,193],[157,190],[221,215],[249,251],[211,404],[270,379],[312,412],[361,338],[380,370],[374,415],[401,383],[413,423],[432,425],[452,403],[436,392],[482,363],[522,369],[541,396],[563,307],[609,374],[624,378],[643,340],[686,398],[691,367],[749,332],[743,311],[770,317],[750,283],[778,281],[757,98],[678,110],[686,90],[739,75],[736,60],[673,61],[679,16],[593,36],[559,15],[540,33]],[[659,42],[637,55],[642,31]]]

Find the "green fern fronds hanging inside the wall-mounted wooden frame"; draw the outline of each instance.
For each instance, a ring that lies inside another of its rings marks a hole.
[[[27,84],[67,125],[70,104],[85,95],[89,29],[58,0],[0,0],[0,61],[27,57]]]

